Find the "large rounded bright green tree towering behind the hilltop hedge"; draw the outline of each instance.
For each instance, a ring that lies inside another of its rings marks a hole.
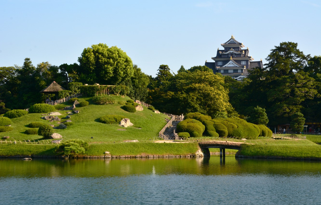
[[[117,46],[99,43],[85,48],[78,58],[77,73],[84,84],[123,84],[134,74],[132,60]]]

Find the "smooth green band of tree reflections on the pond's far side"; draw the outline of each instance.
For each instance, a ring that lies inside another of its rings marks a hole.
[[[28,162],[21,159],[2,159],[0,167],[3,177],[110,177],[140,174],[318,174],[321,164],[313,161],[235,157],[225,157],[225,163],[220,163],[219,156],[212,156],[157,159],[33,159]]]

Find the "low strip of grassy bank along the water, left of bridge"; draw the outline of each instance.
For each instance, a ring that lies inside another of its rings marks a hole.
[[[57,145],[43,144],[1,144],[0,156],[56,156]],[[153,143],[126,142],[89,144],[85,156],[104,156],[108,151],[112,156],[136,155],[189,155],[199,149],[197,143]]]

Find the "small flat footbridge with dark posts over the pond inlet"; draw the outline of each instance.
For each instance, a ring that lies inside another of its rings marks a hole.
[[[241,144],[243,144],[243,142],[207,141],[198,143],[204,156],[210,156],[210,150],[208,148],[220,148],[220,156],[225,156],[225,149],[239,150]]]

